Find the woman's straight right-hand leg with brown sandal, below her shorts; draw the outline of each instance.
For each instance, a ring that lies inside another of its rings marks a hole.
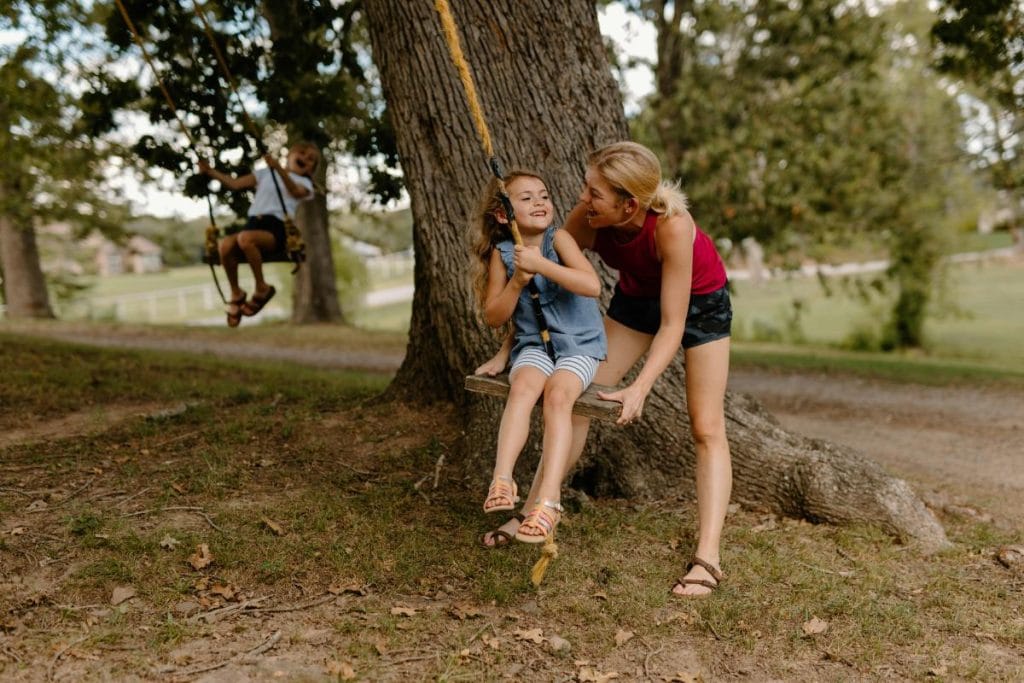
[[[725,435],[725,388],[729,379],[729,339],[686,349],[686,403],[696,451],[697,548],[696,556],[721,567],[720,546],[725,514],[732,495],[732,462]],[[714,579],[694,566],[687,579]],[[702,595],[699,584],[677,584],[677,595]]]

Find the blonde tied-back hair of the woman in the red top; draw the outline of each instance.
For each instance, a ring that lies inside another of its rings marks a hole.
[[[611,187],[624,198],[635,198],[640,208],[665,216],[686,211],[686,195],[678,182],[662,179],[662,164],[654,153],[637,142],[612,142],[587,159]]]

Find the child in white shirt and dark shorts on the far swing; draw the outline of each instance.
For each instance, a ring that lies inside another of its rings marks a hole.
[[[200,172],[219,180],[225,187],[256,188],[256,195],[249,205],[245,227],[234,234],[221,238],[217,244],[220,264],[224,267],[224,274],[231,287],[231,298],[227,303],[227,326],[231,328],[239,326],[243,315],[258,313],[276,294],[273,286],[263,279],[263,255],[284,248],[287,241],[286,212],[291,216],[299,202],[312,199],[312,174],[319,164],[319,151],[311,142],[293,144],[288,152],[288,173],[284,172],[273,155],[264,155],[263,159],[267,168],[240,176],[222,173],[204,161],[199,163]],[[248,301],[246,292],[239,287],[239,261],[242,260],[249,262],[256,284],[253,296]]]

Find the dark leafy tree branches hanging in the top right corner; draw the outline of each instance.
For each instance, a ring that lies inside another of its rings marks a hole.
[[[932,28],[938,68],[966,81],[981,106],[972,140],[978,163],[1013,209],[1024,245],[1024,6],[1017,0],[941,0]]]

